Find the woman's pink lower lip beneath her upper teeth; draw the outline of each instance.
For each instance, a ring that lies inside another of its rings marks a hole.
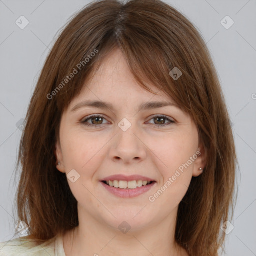
[[[100,181],[100,183],[105,187],[105,189],[107,191],[109,191],[110,193],[119,196],[119,197],[135,197],[138,196],[140,194],[143,194],[145,192],[147,192],[148,190],[150,190],[152,188],[152,186],[154,186],[154,184],[156,183],[155,181],[152,182],[151,184],[148,184],[146,186],[141,186],[141,187],[137,187],[134,189],[124,189],[124,188],[116,188],[114,186],[109,186],[105,183],[103,183],[102,181]]]

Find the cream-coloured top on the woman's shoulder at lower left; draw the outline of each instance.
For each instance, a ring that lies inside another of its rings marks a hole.
[[[63,235],[37,244],[33,239],[25,236],[0,242],[0,256],[65,256]]]

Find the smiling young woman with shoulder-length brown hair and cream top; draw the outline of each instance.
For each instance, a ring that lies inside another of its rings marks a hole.
[[[223,245],[236,165],[228,112],[205,42],[160,0],[95,1],[69,22],[18,160],[29,235],[1,243],[3,254],[216,256]]]

